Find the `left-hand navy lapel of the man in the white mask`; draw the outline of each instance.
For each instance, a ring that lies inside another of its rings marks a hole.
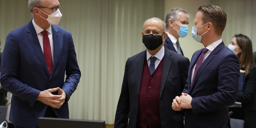
[[[31,45],[33,46],[35,52],[36,52],[36,55],[38,56],[38,59],[40,60],[42,66],[44,67],[44,70],[46,71],[46,73],[49,75],[49,72],[48,72],[48,68],[47,68],[47,65],[46,65],[46,61],[45,61],[45,58],[44,58],[44,53],[42,51],[42,48],[40,46],[40,43],[39,43],[39,40],[38,40],[38,37],[37,37],[37,34],[36,34],[36,30],[33,26],[33,23],[32,23],[32,20],[28,23],[28,29],[27,29],[27,37],[28,37],[28,40],[30,41]]]

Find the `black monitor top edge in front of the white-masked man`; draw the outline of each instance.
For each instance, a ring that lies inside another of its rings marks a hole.
[[[40,117],[39,128],[106,128],[102,120],[78,120]]]

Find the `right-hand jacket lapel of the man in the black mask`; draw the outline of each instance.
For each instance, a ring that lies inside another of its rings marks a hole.
[[[173,57],[171,55],[172,55],[172,53],[170,53],[165,48],[164,49],[164,62],[163,62],[163,69],[162,69],[162,76],[161,76],[160,97],[159,97],[159,99],[162,96],[162,92],[164,90],[164,86],[166,84],[166,80],[167,80],[168,74],[169,74],[171,66],[172,66]]]

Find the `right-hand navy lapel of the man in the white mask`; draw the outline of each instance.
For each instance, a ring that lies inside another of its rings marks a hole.
[[[59,30],[56,28],[55,25],[52,25],[52,40],[53,40],[53,68],[52,68],[52,74],[54,74],[57,60],[58,60],[58,55],[60,53],[60,48],[62,48],[62,44],[60,43],[60,38],[58,34]]]

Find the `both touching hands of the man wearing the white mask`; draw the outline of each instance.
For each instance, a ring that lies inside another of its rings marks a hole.
[[[59,91],[58,95],[53,95],[52,92],[56,91]],[[65,102],[65,98],[66,92],[58,87],[41,91],[36,100],[39,100],[42,103],[51,106],[52,108],[60,108]]]

